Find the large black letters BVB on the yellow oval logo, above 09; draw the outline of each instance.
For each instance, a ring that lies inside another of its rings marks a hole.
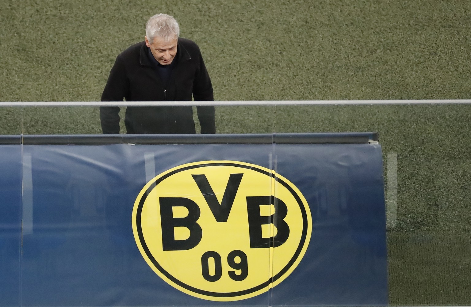
[[[203,194],[216,221],[227,222],[243,174],[230,174],[221,203],[217,200],[206,176],[192,175],[192,177]],[[246,200],[250,247],[278,247],[286,242],[290,234],[290,228],[284,221],[288,213],[286,204],[275,196],[247,196]],[[198,204],[185,197],[160,197],[159,202],[163,250],[190,250],[198,245],[203,236],[203,230],[197,223],[201,214]],[[274,205],[276,214],[273,213],[268,217],[260,215],[260,206],[263,205]],[[188,215],[186,217],[174,217],[174,207],[187,208]],[[273,237],[263,237],[261,226],[271,224],[276,227],[277,234]],[[189,237],[185,240],[176,240],[175,227],[186,227],[190,233]],[[219,261],[216,258],[214,259],[214,261]]]

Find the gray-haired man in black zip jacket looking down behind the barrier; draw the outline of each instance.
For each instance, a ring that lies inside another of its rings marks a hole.
[[[101,101],[212,101],[209,74],[195,42],[179,38],[169,15],[147,21],[145,41],[130,46],[111,69]],[[201,133],[215,133],[214,106],[196,107]],[[120,132],[120,107],[100,107],[104,134]],[[195,133],[191,106],[127,107],[128,134]]]

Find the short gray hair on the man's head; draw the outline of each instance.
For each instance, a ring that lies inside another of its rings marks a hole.
[[[173,16],[157,14],[147,21],[146,36],[151,44],[156,37],[169,41],[178,39],[179,35],[180,27]]]

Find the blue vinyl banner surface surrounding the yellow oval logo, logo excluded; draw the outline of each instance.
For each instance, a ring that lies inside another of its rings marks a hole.
[[[0,145],[0,155],[2,307],[388,304],[380,145]],[[275,167],[312,215],[299,266],[266,293],[233,302],[164,282],[131,225],[149,157],[154,175],[208,160]]]

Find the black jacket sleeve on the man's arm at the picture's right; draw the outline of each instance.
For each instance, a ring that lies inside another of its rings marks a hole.
[[[199,67],[193,84],[193,98],[195,101],[214,101],[211,79],[201,53],[199,54]],[[201,133],[216,133],[214,106],[197,106],[196,112],[201,125]]]

